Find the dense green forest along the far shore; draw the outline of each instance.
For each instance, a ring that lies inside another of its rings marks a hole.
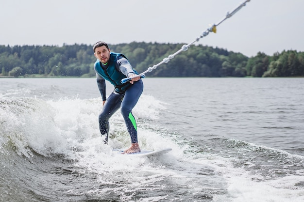
[[[175,53],[184,44],[132,42],[109,44],[139,73]],[[0,45],[0,77],[95,77],[92,45]],[[304,52],[284,50],[247,57],[218,47],[192,45],[161,64],[148,77],[303,77]]]

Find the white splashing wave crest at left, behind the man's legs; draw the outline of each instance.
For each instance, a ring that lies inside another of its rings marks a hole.
[[[141,120],[157,119],[159,101],[143,96],[135,107],[135,116]],[[25,97],[0,98],[0,143],[11,144],[18,155],[70,155],[85,140],[99,138],[98,114],[100,98],[41,100]],[[144,121],[142,121],[144,123]],[[125,131],[124,121],[116,113],[110,124],[111,135]],[[110,136],[111,136],[110,135]],[[128,137],[126,137],[128,139]]]

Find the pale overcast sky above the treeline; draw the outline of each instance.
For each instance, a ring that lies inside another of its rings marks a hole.
[[[0,0],[0,45],[189,44],[244,1]],[[248,57],[304,51],[303,8],[304,0],[250,0],[194,45]]]

